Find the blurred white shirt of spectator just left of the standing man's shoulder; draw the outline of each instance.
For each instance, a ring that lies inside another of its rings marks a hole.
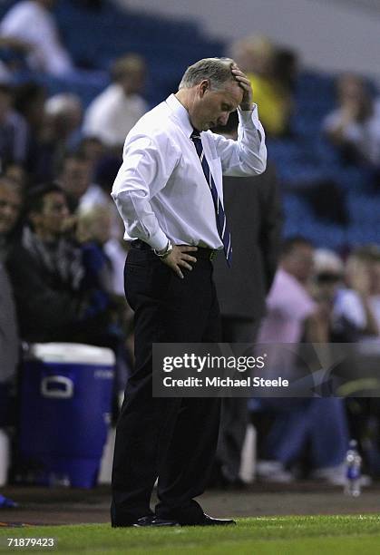
[[[147,110],[148,104],[139,94],[125,96],[122,85],[113,83],[87,108],[83,134],[97,137],[106,146],[118,146]]]

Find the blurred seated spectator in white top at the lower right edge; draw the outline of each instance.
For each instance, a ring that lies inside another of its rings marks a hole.
[[[377,246],[365,245],[354,249],[346,259],[346,287],[344,283],[336,287],[330,312],[332,341],[359,344],[357,350],[352,349],[354,360],[348,359],[346,365],[343,362],[338,372],[348,377],[348,382],[341,387],[342,394],[345,388],[350,391],[346,398],[350,436],[358,441],[364,456],[364,466],[373,474],[380,471],[380,405],[378,399],[372,395],[369,398],[363,396],[360,384],[365,383],[365,377],[371,375],[374,368],[377,372],[378,367],[379,263],[380,249]],[[356,380],[359,376],[363,381],[360,378]],[[364,475],[362,482],[366,485],[369,482],[368,476]]]

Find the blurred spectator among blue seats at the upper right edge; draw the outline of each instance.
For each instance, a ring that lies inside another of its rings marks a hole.
[[[338,107],[326,116],[323,129],[347,161],[380,167],[380,101],[364,80],[345,73],[336,82]]]

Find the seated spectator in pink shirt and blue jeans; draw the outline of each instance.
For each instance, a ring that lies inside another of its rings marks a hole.
[[[258,343],[299,344],[328,341],[328,321],[308,292],[313,271],[313,248],[307,239],[287,239],[280,268],[270,290],[268,313],[258,334]],[[271,347],[269,372],[292,379],[296,357],[280,345]],[[274,411],[276,418],[266,439],[268,460],[258,462],[258,476],[269,481],[290,482],[290,465],[297,462],[310,442],[315,478],[341,483],[342,463],[348,441],[344,404],[338,398],[259,400],[261,409]]]

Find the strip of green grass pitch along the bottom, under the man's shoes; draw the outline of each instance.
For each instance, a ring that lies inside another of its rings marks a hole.
[[[49,538],[61,553],[207,553],[209,555],[378,555],[380,515],[288,516],[239,519],[237,526],[171,529],[112,529],[107,524],[0,529],[0,552],[11,553],[7,538]],[[17,550],[18,552],[20,551]]]

